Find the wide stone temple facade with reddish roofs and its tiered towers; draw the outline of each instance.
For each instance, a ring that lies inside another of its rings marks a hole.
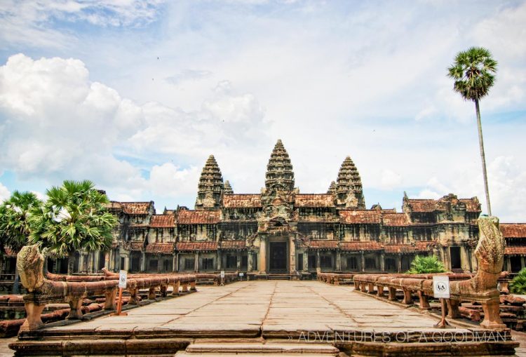
[[[234,187],[235,189],[235,187]],[[309,276],[316,271],[402,272],[415,255],[437,255],[452,271],[474,271],[478,198],[403,197],[402,212],[367,209],[358,168],[349,156],[325,194],[295,187],[281,140],[271,152],[265,187],[236,194],[214,156],[205,163],[194,210],[156,214],[154,202],[116,202],[119,217],[109,252],[80,252],[79,271],[240,271]],[[501,224],[505,269],[525,266],[526,224]],[[60,272],[64,262],[48,262]]]

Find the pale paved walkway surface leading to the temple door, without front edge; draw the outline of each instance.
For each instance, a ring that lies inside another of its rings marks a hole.
[[[141,332],[239,330],[271,337],[283,331],[367,329],[376,332],[432,330],[436,319],[318,281],[243,281],[198,287],[198,293],[149,304],[128,316],[48,328]],[[457,329],[458,332],[462,331]]]

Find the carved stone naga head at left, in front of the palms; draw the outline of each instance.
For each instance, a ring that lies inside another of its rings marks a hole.
[[[27,291],[33,292],[43,285],[43,262],[38,245],[26,245],[18,252],[16,266]]]

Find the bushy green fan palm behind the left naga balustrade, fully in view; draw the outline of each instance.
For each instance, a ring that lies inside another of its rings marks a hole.
[[[68,257],[67,274],[72,274],[75,252],[109,248],[117,219],[105,206],[107,196],[88,180],[64,181],[46,194],[46,203],[31,216],[29,241],[58,257]]]

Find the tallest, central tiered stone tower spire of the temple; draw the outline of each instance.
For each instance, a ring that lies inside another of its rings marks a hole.
[[[267,175],[265,175],[265,187],[278,187],[279,189],[292,191],[294,189],[294,173],[292,164],[288,157],[287,150],[283,147],[283,142],[278,140],[267,165]]]

